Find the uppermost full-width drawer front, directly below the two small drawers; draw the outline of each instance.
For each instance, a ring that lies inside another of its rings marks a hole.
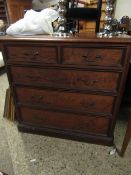
[[[22,84],[37,84],[81,90],[103,90],[116,92],[119,73],[97,71],[74,71],[11,67],[13,81]]]

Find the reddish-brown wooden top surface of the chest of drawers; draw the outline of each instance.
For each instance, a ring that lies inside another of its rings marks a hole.
[[[122,36],[122,37],[112,37],[112,38],[97,38],[97,36],[93,33],[88,34],[78,34],[70,37],[55,37],[51,35],[33,35],[33,36],[0,36],[0,43],[6,43],[8,41],[12,42],[90,42],[90,43],[119,43],[119,44],[131,44],[130,36]]]

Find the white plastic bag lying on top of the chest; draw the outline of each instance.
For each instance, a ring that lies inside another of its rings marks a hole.
[[[25,13],[23,19],[9,26],[6,33],[8,35],[52,34],[52,22],[58,17],[58,12],[51,8],[46,8],[40,12],[31,9]]]

